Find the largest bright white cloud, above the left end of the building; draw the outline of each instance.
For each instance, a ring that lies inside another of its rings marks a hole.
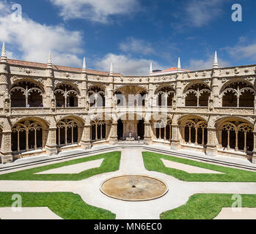
[[[13,22],[10,9],[9,5],[3,8],[0,5],[0,41],[7,43],[9,56],[14,51],[17,54],[18,50],[19,59],[45,63],[51,50],[54,64],[81,66],[76,56],[84,52],[80,47],[81,32],[69,31],[63,26],[47,26],[24,17],[21,23]]]

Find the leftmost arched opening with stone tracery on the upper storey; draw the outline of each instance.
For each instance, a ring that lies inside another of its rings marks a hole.
[[[43,91],[36,84],[22,81],[10,90],[11,107],[42,107]]]

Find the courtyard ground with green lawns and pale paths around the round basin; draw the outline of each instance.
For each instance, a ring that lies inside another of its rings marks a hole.
[[[185,151],[175,155],[167,147],[156,148],[163,153],[101,146],[100,153],[92,148],[72,157],[1,165],[0,218],[256,219],[255,165],[194,152],[189,159]],[[156,178],[167,192],[153,200],[127,201],[100,191],[104,181],[124,175]],[[21,196],[21,210],[12,207],[13,195]],[[241,195],[241,208],[233,208],[235,195]]]

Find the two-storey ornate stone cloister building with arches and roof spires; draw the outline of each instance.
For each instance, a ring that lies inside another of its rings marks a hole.
[[[7,59],[0,62],[1,163],[74,148],[145,144],[256,156],[256,65],[147,76]],[[132,141],[131,141],[132,143]],[[254,162],[254,160],[252,160]]]

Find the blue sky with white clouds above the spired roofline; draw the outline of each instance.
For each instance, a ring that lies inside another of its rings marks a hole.
[[[21,4],[22,22],[11,16]],[[233,22],[233,4],[243,20]],[[256,1],[250,0],[0,0],[0,41],[11,59],[124,75],[153,69],[210,69],[214,51],[222,67],[256,64]]]

